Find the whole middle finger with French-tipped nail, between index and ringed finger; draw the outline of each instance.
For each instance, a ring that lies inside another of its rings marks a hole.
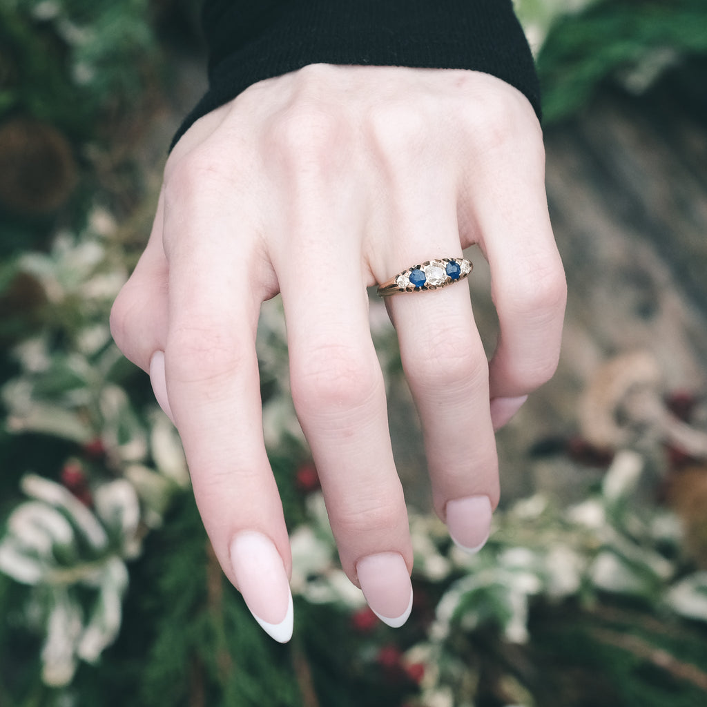
[[[302,247],[303,236],[291,234],[291,243],[300,246],[288,248],[286,259],[274,263],[288,326],[292,395],[320,473],[344,571],[378,616],[399,626],[412,597],[407,509],[370,337],[356,246],[360,239],[337,243],[334,226],[317,234],[327,228],[319,224],[334,221],[308,224],[315,252]],[[316,273],[329,276],[312,277]],[[306,286],[305,274],[321,284]]]

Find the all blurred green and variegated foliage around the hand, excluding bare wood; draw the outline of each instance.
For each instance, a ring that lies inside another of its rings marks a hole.
[[[707,57],[701,0],[519,9],[550,121],[606,82],[646,90]],[[578,506],[538,493],[498,513],[474,557],[411,512],[413,615],[398,631],[375,619],[337,561],[277,300],[258,355],[293,641],[252,621],[206,541],[179,439],[107,327],[153,209],[137,151],[165,94],[160,11],[0,5],[0,705],[703,704],[707,573],[674,515],[634,501],[636,450],[604,455]],[[374,335],[394,381],[395,334]]]

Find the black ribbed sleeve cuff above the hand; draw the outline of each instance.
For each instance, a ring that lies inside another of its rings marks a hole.
[[[524,93],[539,86],[511,0],[205,0],[209,90],[199,117],[264,78],[308,64],[474,69]]]

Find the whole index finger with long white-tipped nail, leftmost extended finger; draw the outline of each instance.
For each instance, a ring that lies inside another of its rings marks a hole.
[[[292,631],[291,554],[264,446],[255,352],[266,264],[247,206],[189,169],[165,185],[165,377],[199,513],[223,571],[278,641]]]

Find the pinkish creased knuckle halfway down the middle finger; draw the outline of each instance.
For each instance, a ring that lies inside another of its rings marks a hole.
[[[344,346],[320,346],[292,364],[292,396],[303,414],[366,407],[380,390],[375,361]]]

